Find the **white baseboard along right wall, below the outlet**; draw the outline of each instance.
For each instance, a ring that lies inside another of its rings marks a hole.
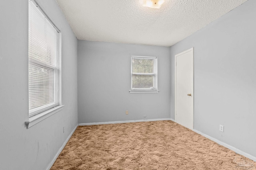
[[[202,135],[202,136],[204,136],[204,137],[206,137],[206,138],[208,138],[208,139],[210,139],[210,140],[212,140],[212,141],[214,141],[214,142],[216,142],[216,143],[218,143],[218,144],[220,144],[220,145],[222,145],[222,146],[224,146],[224,147],[226,147],[226,148],[228,148],[228,149],[230,149],[230,150],[233,150],[234,152],[236,152],[238,154],[241,154],[241,155],[245,156],[246,158],[249,158],[249,159],[251,159],[251,160],[256,162],[256,157],[255,156],[252,156],[252,155],[250,155],[250,154],[248,154],[246,152],[243,152],[242,150],[239,150],[239,149],[237,149],[235,147],[232,147],[232,146],[230,146],[230,145],[228,145],[228,144],[226,144],[226,143],[224,143],[222,141],[219,141],[218,139],[210,137],[210,136],[208,136],[208,135],[206,135],[206,134],[204,134],[204,133],[202,133],[200,131],[197,131],[195,129],[193,129],[193,131],[198,133],[198,134],[200,134],[200,135]]]

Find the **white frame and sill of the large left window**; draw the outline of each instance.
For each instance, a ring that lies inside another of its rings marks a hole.
[[[54,22],[49,18],[49,16],[46,14],[46,12],[44,10],[42,10],[42,8],[40,8],[40,5],[38,4],[38,2],[36,2],[36,0],[28,0],[29,3],[29,16],[28,16],[28,20],[29,23],[33,22],[30,18],[31,18],[31,12],[32,12],[32,6],[35,5],[36,6],[36,11],[35,12],[39,12],[42,13],[42,15],[44,16],[45,20],[47,20],[46,22],[49,22],[52,27],[54,27],[54,29],[57,31],[57,46],[56,46],[56,53],[58,54],[57,56],[54,57],[54,60],[56,59],[58,62],[58,66],[54,66],[54,68],[52,68],[52,65],[46,64],[42,61],[36,60],[36,59],[32,59],[32,57],[30,57],[30,55],[28,55],[28,69],[30,69],[30,66],[33,66],[34,64],[39,64],[45,68],[49,68],[49,69],[57,69],[57,78],[55,78],[55,76],[52,77],[52,80],[54,80],[54,82],[57,84],[57,86],[54,86],[53,90],[54,92],[57,90],[58,92],[56,93],[56,95],[53,94],[53,97],[56,96],[57,98],[57,104],[52,105],[49,107],[49,103],[44,104],[44,109],[40,109],[40,111],[36,111],[35,113],[32,112],[30,113],[30,108],[28,111],[28,121],[25,121],[25,125],[27,128],[32,127],[33,125],[35,125],[36,123],[39,123],[40,121],[46,119],[47,117],[57,113],[58,111],[62,110],[63,106],[62,105],[62,100],[61,100],[61,32],[59,31],[59,29],[54,25]],[[33,3],[33,4],[30,4]],[[45,23],[46,24],[46,23]],[[28,33],[28,39],[32,38],[30,37],[30,25],[29,25],[29,29],[28,29],[29,33]],[[30,41],[28,43],[28,48],[30,49]],[[30,53],[30,50],[29,50]],[[57,58],[56,58],[57,57]],[[30,71],[29,71],[30,72]],[[28,75],[29,76],[29,75]],[[39,80],[39,79],[38,79]],[[28,81],[28,86],[30,84],[30,81]],[[53,92],[53,93],[54,93]],[[30,100],[28,101],[30,102]],[[48,107],[47,107],[48,106]],[[38,108],[40,108],[41,106],[39,106]]]

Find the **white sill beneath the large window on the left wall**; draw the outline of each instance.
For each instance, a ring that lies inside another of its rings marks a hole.
[[[27,125],[27,129],[36,125],[37,123],[39,123],[40,121],[46,119],[47,117],[50,117],[51,115],[57,113],[58,111],[63,109],[63,106],[56,106],[53,107],[51,109],[48,109],[46,111],[43,111],[42,113],[38,113],[32,117],[28,118],[28,121],[25,121],[25,125]]]

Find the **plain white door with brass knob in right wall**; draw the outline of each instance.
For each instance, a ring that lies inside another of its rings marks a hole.
[[[193,129],[193,48],[175,55],[175,121]]]

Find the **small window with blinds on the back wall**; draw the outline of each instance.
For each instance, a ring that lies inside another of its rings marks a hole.
[[[157,91],[156,57],[131,57],[130,91]]]

